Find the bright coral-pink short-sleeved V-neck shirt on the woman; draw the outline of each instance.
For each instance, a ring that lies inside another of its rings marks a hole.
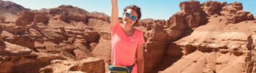
[[[116,23],[111,29],[111,64],[115,66],[131,66],[135,64],[135,55],[138,45],[143,45],[144,37],[142,31],[135,29],[132,37],[127,37],[120,23]],[[132,73],[137,73],[137,65]]]

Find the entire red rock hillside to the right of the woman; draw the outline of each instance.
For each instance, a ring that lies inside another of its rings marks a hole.
[[[255,72],[256,21],[241,3],[184,1],[169,20],[141,20],[145,71]]]

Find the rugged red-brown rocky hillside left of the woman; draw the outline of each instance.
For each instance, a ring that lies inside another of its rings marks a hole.
[[[0,21],[0,72],[105,72],[104,58],[94,53],[102,48],[96,46],[107,32],[101,27],[110,22],[108,15],[69,5],[13,15],[15,20]]]

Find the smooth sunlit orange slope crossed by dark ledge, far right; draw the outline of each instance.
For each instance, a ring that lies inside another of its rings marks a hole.
[[[225,9],[231,6],[234,9]],[[254,55],[252,36],[255,35],[255,28],[249,28],[255,27],[255,23],[249,21],[253,16],[242,11],[239,3],[227,4],[225,7],[221,11],[222,15],[211,16],[205,26],[193,29],[187,37],[178,39],[169,46],[167,55],[175,58],[174,56],[180,56],[182,50],[184,56],[165,69],[164,73],[255,71],[251,65],[254,63],[251,55]],[[230,11],[225,13],[225,10]],[[236,24],[227,25],[232,21]]]

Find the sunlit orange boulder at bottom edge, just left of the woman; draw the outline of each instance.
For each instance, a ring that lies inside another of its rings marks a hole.
[[[99,58],[87,58],[80,61],[54,60],[39,72],[78,72],[104,73],[105,63]]]

